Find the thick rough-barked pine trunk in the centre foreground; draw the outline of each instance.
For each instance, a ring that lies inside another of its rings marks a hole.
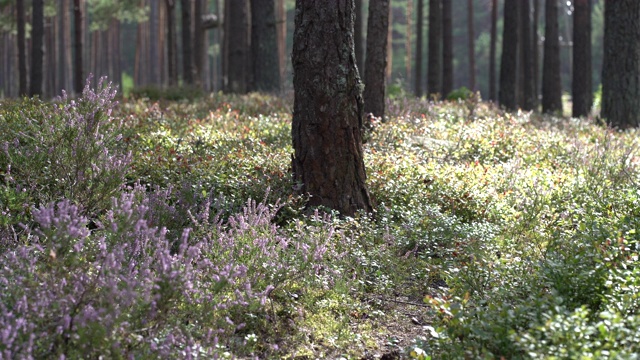
[[[292,169],[309,205],[372,211],[362,153],[353,0],[296,1]]]

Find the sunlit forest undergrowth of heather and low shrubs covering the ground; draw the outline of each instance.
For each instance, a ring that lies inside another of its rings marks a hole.
[[[0,103],[0,359],[628,359],[638,134],[395,98],[374,214],[308,209],[290,101]]]

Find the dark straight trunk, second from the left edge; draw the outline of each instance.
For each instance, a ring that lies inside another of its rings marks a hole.
[[[31,89],[30,96],[42,95],[44,60],[44,0],[33,0],[31,28]]]

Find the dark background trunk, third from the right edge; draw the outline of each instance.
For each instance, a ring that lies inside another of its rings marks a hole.
[[[615,0],[617,2],[619,0]],[[542,112],[562,112],[562,83],[560,79],[560,37],[558,32],[558,3],[545,2],[544,55],[542,59]]]

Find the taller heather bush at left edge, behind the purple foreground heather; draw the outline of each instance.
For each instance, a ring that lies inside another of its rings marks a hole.
[[[78,99],[25,99],[3,108],[0,122],[0,203],[5,226],[30,222],[31,205],[68,199],[96,215],[124,183],[130,154],[122,122],[113,116],[116,91],[104,79]]]

